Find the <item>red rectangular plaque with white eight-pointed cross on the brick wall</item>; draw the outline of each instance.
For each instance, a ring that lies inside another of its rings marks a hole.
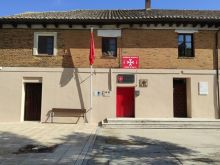
[[[122,56],[122,68],[138,69],[139,68],[139,57],[138,56]]]

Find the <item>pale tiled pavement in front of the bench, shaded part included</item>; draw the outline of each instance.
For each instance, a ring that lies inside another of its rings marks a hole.
[[[96,129],[88,124],[0,124],[0,165],[81,164]],[[53,153],[15,154],[30,144],[58,147]]]

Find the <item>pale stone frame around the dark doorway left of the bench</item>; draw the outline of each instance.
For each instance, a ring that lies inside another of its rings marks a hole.
[[[43,97],[43,83],[42,77],[24,77],[22,80],[22,88],[21,88],[21,116],[20,122],[25,122],[24,115],[25,115],[25,84],[26,83],[41,83],[42,84],[42,95]],[[41,112],[42,112],[42,101],[41,101]]]

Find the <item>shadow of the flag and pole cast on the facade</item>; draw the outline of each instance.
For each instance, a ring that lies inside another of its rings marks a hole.
[[[66,66],[69,66],[71,68],[66,68]],[[75,68],[73,56],[71,54],[70,49],[68,49],[67,52],[65,53],[65,55],[63,56],[62,67],[63,67],[63,72],[62,72],[62,75],[60,78],[60,86],[61,87],[66,86],[74,78],[75,83],[76,83],[76,87],[77,87],[78,97],[80,100],[80,108],[85,109],[85,103],[84,103],[82,88],[81,88],[81,84],[85,80],[83,80],[82,82],[80,81],[79,71],[78,71],[78,68]],[[74,96],[76,97],[76,95],[74,95]],[[74,96],[72,98],[73,101],[75,100]],[[79,108],[79,107],[72,107],[72,108]],[[87,113],[88,113],[88,111],[87,111]],[[85,122],[88,122],[86,116],[87,115],[85,115]]]

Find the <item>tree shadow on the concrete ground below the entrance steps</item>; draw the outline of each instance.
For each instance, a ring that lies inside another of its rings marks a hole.
[[[130,135],[128,139],[120,139],[98,135],[84,164],[183,164],[180,157],[188,158],[186,161],[194,164],[220,163],[219,160],[198,155],[197,151],[187,147],[147,137]]]

